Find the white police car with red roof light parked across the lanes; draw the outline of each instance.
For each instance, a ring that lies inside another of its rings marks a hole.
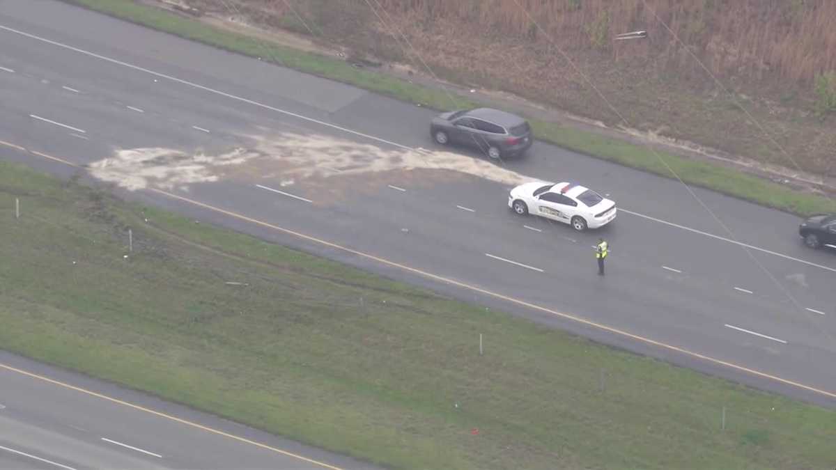
[[[615,218],[615,202],[569,182],[533,181],[508,195],[508,207],[519,215],[532,213],[570,224],[575,230],[604,227]]]

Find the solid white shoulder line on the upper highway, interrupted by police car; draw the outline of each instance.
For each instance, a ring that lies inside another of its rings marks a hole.
[[[231,100],[238,100],[238,101],[241,101],[242,103],[247,103],[249,105],[258,106],[258,107],[264,108],[265,110],[272,110],[272,111],[275,111],[277,113],[282,113],[283,115],[293,116],[293,117],[298,118],[300,120],[306,120],[308,122],[313,122],[313,123],[316,123],[316,124],[319,124],[319,125],[324,125],[326,127],[330,127],[331,129],[341,130],[343,132],[353,134],[353,135],[359,135],[361,137],[365,137],[367,139],[375,140],[375,141],[378,141],[378,142],[383,142],[385,144],[389,144],[390,146],[395,146],[395,147],[398,147],[398,148],[406,150],[406,151],[415,151],[415,149],[410,147],[410,146],[404,146],[404,145],[398,144],[397,142],[393,142],[391,140],[381,139],[380,137],[375,137],[374,135],[364,134],[363,132],[358,132],[356,130],[350,130],[348,128],[345,128],[345,127],[342,127],[342,126],[339,126],[339,125],[334,125],[334,124],[331,124],[329,122],[325,122],[325,121],[322,121],[322,120],[316,120],[314,118],[309,118],[308,116],[304,116],[304,115],[298,115],[298,114],[292,113],[290,111],[286,111],[286,110],[276,108],[275,106],[265,105],[263,103],[259,103],[259,102],[254,101],[254,100],[248,100],[247,98],[242,98],[241,96],[236,96],[236,95],[232,95],[232,94],[229,94],[229,93],[225,93],[223,91],[220,91],[220,90],[217,90],[217,89],[212,89],[212,88],[209,88],[209,87],[201,85],[201,84],[196,84],[196,83],[190,82],[188,80],[178,79],[176,77],[172,77],[171,75],[161,74],[159,72],[155,72],[155,71],[150,70],[150,69],[145,69],[145,68],[140,67],[138,65],[128,64],[128,63],[122,62],[120,60],[111,59],[110,57],[105,57],[104,55],[94,54],[94,53],[86,51],[84,49],[75,48],[75,47],[70,46],[68,44],[59,43],[57,41],[53,41],[53,40],[50,40],[50,39],[47,39],[47,38],[41,38],[41,37],[36,36],[34,34],[24,33],[23,31],[19,31],[18,29],[14,29],[14,28],[9,28],[8,26],[0,25],[0,29],[3,29],[3,30],[8,31],[10,33],[19,34],[19,35],[27,37],[27,38],[32,38],[32,39],[41,41],[43,43],[53,44],[54,46],[58,46],[60,48],[69,49],[69,50],[77,52],[79,54],[84,54],[84,55],[88,55],[89,57],[94,57],[95,59],[104,60],[106,62],[110,62],[111,64],[121,65],[123,67],[138,70],[140,72],[144,72],[146,74],[151,74],[151,75],[154,75],[156,77],[161,77],[163,79],[169,79],[169,80],[174,81],[174,82],[179,83],[179,84],[185,84],[187,86],[191,86],[191,87],[196,88],[196,89],[202,89],[202,90],[207,91],[209,93],[224,96],[224,97],[229,98]],[[619,211],[627,212],[628,214],[632,214],[632,215],[635,215],[637,217],[644,217],[644,218],[646,218],[648,220],[652,220],[654,222],[664,223],[665,225],[670,225],[671,227],[677,227],[677,228],[681,228],[682,230],[687,230],[689,232],[699,233],[701,235],[705,235],[706,237],[716,238],[717,240],[722,240],[722,241],[728,242],[728,243],[734,243],[734,244],[740,245],[742,247],[751,248],[753,250],[760,251],[762,253],[769,253],[769,254],[772,254],[773,256],[777,256],[777,257],[785,258],[785,259],[790,259],[790,260],[796,261],[798,263],[804,263],[804,264],[807,264],[809,266],[814,266],[816,268],[826,269],[828,271],[836,273],[836,268],[829,268],[828,266],[823,266],[821,264],[811,263],[809,261],[805,261],[805,260],[799,259],[799,258],[793,258],[793,257],[788,256],[786,254],[777,253],[777,252],[773,252],[771,250],[767,250],[766,248],[757,248],[755,246],[748,245],[747,243],[737,242],[735,240],[732,240],[732,239],[729,239],[729,238],[723,238],[723,237],[720,237],[718,235],[714,235],[712,233],[702,232],[701,230],[696,230],[696,228],[685,227],[685,226],[679,225],[677,223],[667,222],[667,221],[661,220],[661,219],[656,218],[656,217],[645,216],[644,214],[640,214],[639,212],[632,212],[632,211],[629,211],[627,209],[624,209],[623,207],[619,208]],[[836,248],[836,247],[833,247],[833,248]]]

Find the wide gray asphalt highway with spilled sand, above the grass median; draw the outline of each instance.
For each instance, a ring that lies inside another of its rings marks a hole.
[[[63,3],[3,3],[0,41],[3,158],[62,175],[74,170],[31,151],[92,165],[201,220],[834,403],[836,258],[803,247],[797,217],[539,142],[486,164],[434,146],[430,110]],[[118,153],[149,148],[202,157]],[[507,190],[526,178],[593,187],[619,217],[584,233],[517,217]]]

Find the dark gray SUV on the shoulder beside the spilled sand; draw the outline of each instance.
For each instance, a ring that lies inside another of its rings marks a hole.
[[[490,108],[441,113],[432,118],[430,133],[439,144],[475,147],[492,159],[522,155],[532,144],[526,120]]]

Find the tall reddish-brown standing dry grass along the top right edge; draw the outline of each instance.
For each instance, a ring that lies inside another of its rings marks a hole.
[[[610,38],[635,29],[648,31],[646,44],[631,46],[630,54],[685,72],[700,65],[683,44],[712,73],[742,79],[812,83],[816,74],[836,69],[836,0],[370,1],[421,23],[456,18],[485,34],[532,43],[553,40],[569,50],[594,49],[589,26],[601,24],[604,13],[609,13],[604,27]],[[601,49],[616,58],[623,54],[617,43],[603,45]]]

